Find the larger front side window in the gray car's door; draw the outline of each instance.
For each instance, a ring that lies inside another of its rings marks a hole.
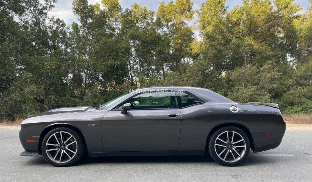
[[[124,102],[130,103],[132,109],[165,109],[165,108],[178,108],[177,100],[174,93],[159,93],[151,92],[144,93],[132,97]],[[119,105],[120,110],[122,105]]]

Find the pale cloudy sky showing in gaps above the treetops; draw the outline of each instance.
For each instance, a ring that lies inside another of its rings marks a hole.
[[[41,0],[44,2],[44,0]],[[119,4],[123,9],[125,8],[131,8],[131,5],[137,2],[140,6],[144,7],[146,6],[148,10],[152,10],[154,12],[157,12],[160,2],[164,1],[165,4],[170,2],[171,0],[119,0]],[[65,21],[65,23],[69,26],[72,22],[78,22],[76,16],[72,12],[72,0],[59,0],[55,7],[52,9],[51,12],[48,13],[49,16],[55,16],[56,18],[61,18]],[[101,0],[89,0],[90,4],[95,4],[98,2],[101,6]],[[173,0],[175,2],[175,0]],[[193,0],[193,10],[199,9],[202,2],[205,2],[204,0]],[[309,0],[295,0],[296,4],[300,4],[303,8],[299,13],[305,13],[309,6]],[[228,10],[231,10],[236,5],[242,5],[242,0],[226,0],[225,2],[226,6],[229,6]],[[188,22],[188,24],[191,26],[194,24],[194,22],[197,20],[197,16],[194,16],[194,19],[191,22]],[[198,31],[195,31],[195,36],[198,37]]]

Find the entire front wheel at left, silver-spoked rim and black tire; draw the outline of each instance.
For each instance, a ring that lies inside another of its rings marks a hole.
[[[71,166],[84,153],[84,140],[76,130],[66,127],[54,128],[44,137],[42,155],[53,166]]]

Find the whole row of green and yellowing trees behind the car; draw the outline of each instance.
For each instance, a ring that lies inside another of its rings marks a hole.
[[[118,0],[74,0],[79,22],[68,27],[48,17],[55,2],[0,0],[0,118],[100,105],[162,85],[312,113],[312,5],[300,14],[293,0],[244,0],[231,11],[225,0],[198,10],[176,0],[153,12],[137,3],[122,9]]]

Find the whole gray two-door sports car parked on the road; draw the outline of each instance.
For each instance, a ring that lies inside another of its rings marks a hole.
[[[204,155],[237,166],[280,145],[277,104],[236,103],[198,87],[146,87],[98,106],[48,110],[22,121],[21,156],[70,166],[95,156]]]

